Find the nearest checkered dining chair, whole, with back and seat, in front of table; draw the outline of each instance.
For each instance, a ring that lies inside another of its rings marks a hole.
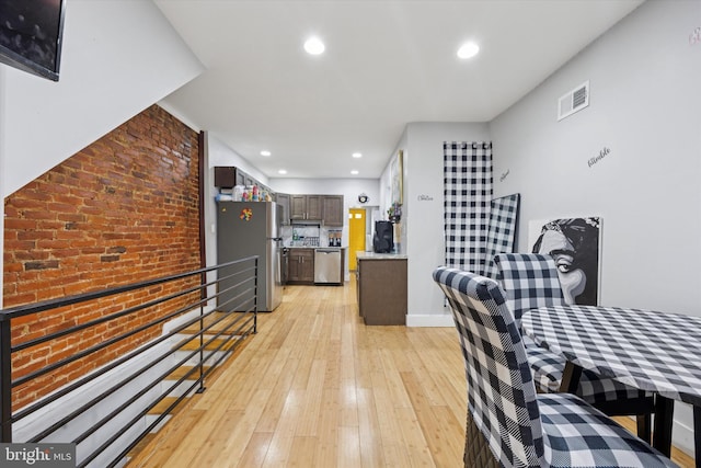
[[[537,393],[499,285],[440,266],[468,380],[466,467],[674,467],[575,395]],[[491,454],[491,456],[490,456]]]

